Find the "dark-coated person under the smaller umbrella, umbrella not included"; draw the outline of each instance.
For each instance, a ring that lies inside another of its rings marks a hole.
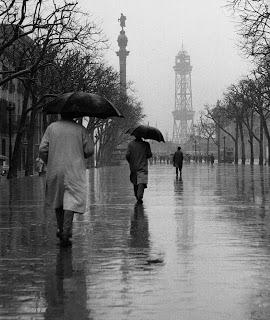
[[[143,203],[144,189],[148,183],[148,159],[152,157],[150,144],[136,137],[127,147],[126,159],[130,167],[130,181],[133,184],[137,204]]]

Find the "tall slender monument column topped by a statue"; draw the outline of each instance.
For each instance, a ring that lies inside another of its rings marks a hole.
[[[129,55],[129,51],[126,50],[128,38],[125,34],[124,27],[126,26],[126,16],[121,13],[121,17],[118,19],[121,26],[121,31],[118,36],[117,42],[119,46],[119,51],[116,52],[119,57],[119,66],[120,66],[120,95],[125,97],[127,95],[127,80],[126,80],[126,60]]]

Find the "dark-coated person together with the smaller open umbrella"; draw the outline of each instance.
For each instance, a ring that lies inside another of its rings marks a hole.
[[[144,189],[148,183],[148,159],[152,157],[150,144],[142,138],[163,142],[164,138],[158,129],[144,125],[131,128],[127,133],[135,136],[135,140],[128,144],[126,159],[130,167],[130,181],[133,184],[137,204],[142,204]]]

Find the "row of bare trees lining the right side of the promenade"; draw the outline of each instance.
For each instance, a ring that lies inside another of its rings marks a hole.
[[[250,163],[254,163],[255,144],[259,164],[264,163],[264,146],[270,150],[270,12],[265,0],[229,0],[228,8],[238,17],[241,49],[254,63],[245,78],[229,86],[214,106],[205,106],[196,134],[212,140],[220,155],[220,132],[234,144],[234,160],[245,164],[247,144]],[[264,142],[266,139],[266,142]],[[220,156],[219,156],[220,157]],[[267,159],[270,165],[270,156]]]

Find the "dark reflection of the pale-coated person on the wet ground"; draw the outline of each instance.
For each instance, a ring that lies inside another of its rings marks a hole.
[[[74,271],[72,248],[60,248],[56,259],[56,270],[47,275],[45,298],[47,320],[91,319],[87,310],[85,275]]]

